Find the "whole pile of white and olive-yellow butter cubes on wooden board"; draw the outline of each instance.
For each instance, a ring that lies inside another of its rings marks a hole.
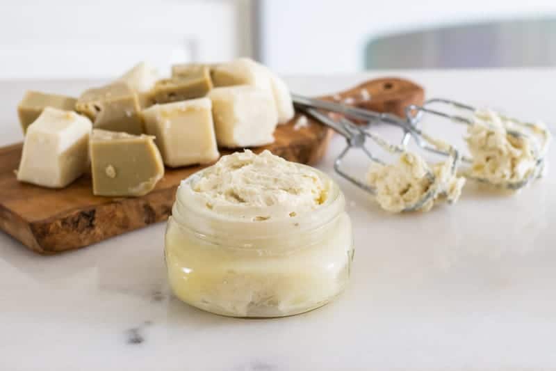
[[[142,196],[170,167],[210,164],[218,148],[274,141],[294,116],[288,87],[250,58],[172,66],[139,63],[78,99],[28,91],[18,106],[25,133],[17,179],[63,188],[91,169],[98,196]]]

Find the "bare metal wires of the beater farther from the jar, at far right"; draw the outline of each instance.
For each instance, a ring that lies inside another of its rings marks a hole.
[[[423,104],[423,106],[418,106],[415,104],[411,104],[409,106],[406,107],[405,111],[406,111],[406,116],[407,116],[407,121],[408,123],[412,126],[412,127],[416,127],[419,123],[419,121],[423,118],[423,113],[430,113],[432,115],[435,116],[439,116],[442,118],[446,118],[454,123],[461,123],[467,126],[471,126],[474,125],[474,121],[471,118],[467,118],[464,116],[459,116],[459,115],[452,115],[449,113],[445,113],[444,111],[438,111],[436,109],[430,109],[428,108],[428,106],[432,105],[432,104],[443,104],[445,106],[449,106],[452,109],[457,109],[460,111],[466,111],[468,113],[474,114],[477,112],[477,109],[475,109],[475,107],[473,106],[469,106],[468,104],[462,104],[460,102],[455,102],[453,100],[446,100],[446,99],[439,99],[439,98],[434,98],[431,100],[427,100],[425,102],[425,104]],[[534,124],[534,123],[526,123],[523,122],[521,120],[517,120],[516,118],[510,118],[507,116],[503,116],[503,115],[499,115],[499,117],[502,119],[502,121],[508,122],[508,123],[512,123],[513,125],[515,125],[516,127],[520,127],[521,129],[525,129],[528,130],[530,133],[534,133],[534,134],[538,134],[539,136],[541,136],[542,141],[541,141],[541,145],[537,146],[537,148],[535,148],[534,150],[534,170],[530,171],[530,173],[528,174],[527,177],[525,177],[525,179],[523,180],[518,180],[516,182],[510,182],[510,181],[501,181],[498,182],[497,186],[501,186],[501,187],[505,187],[507,189],[512,189],[512,190],[517,190],[517,189],[521,189],[525,186],[527,186],[528,184],[530,184],[530,182],[532,182],[532,180],[541,177],[542,173],[543,173],[543,169],[544,166],[546,164],[545,161],[545,155],[546,155],[546,150],[548,148],[548,144],[550,143],[550,132],[548,131],[548,129],[543,128],[543,127],[539,127],[539,125]],[[523,132],[522,130],[516,130],[516,129],[512,129],[510,127],[506,127],[506,132],[507,134],[514,136],[516,138],[525,138],[525,139],[531,139],[532,136],[530,134],[526,134],[525,132]],[[409,134],[409,132],[407,132],[406,134],[404,134],[404,138],[402,140],[402,144],[407,144],[409,139],[411,138],[411,135]],[[426,143],[423,143],[423,141],[419,141],[418,137],[415,137],[416,139],[416,143],[418,145],[420,145],[421,148],[425,149],[425,150],[431,150]],[[532,143],[534,143],[534,141],[532,141]],[[438,150],[432,150],[432,152],[435,153],[440,153],[443,155],[448,155],[448,153],[442,153],[443,151],[438,151]],[[466,162],[467,164],[471,164],[473,162],[473,159],[467,156],[462,156],[461,160]],[[464,176],[473,179],[473,180],[477,180],[478,182],[483,182],[483,183],[489,183],[489,184],[493,184],[490,180],[487,180],[483,177],[474,177],[473,175],[464,172],[463,174]]]

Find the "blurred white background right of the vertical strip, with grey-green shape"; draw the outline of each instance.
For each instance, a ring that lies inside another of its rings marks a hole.
[[[261,59],[287,74],[556,65],[556,0],[266,0],[261,14]]]

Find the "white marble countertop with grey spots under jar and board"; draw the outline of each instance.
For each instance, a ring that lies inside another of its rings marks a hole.
[[[393,73],[289,82],[320,94],[384,74]],[[423,84],[428,97],[556,128],[555,70],[395,74]],[[26,88],[89,85],[0,81],[0,145],[21,139],[15,105]],[[457,129],[446,124],[439,134]],[[319,167],[332,173],[342,146],[335,138]],[[556,369],[555,148],[549,158],[548,177],[520,194],[471,186],[458,205],[427,214],[381,212],[336,176],[354,222],[352,281],[334,303],[284,319],[219,317],[174,299],[164,223],[51,257],[0,233],[0,370]]]

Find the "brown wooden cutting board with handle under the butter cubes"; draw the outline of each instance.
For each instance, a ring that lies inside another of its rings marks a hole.
[[[367,93],[361,93],[366,89]],[[347,100],[374,111],[403,114],[404,106],[422,104],[423,88],[402,79],[366,81],[350,90],[323,97]],[[275,143],[252,148],[268,149],[289,161],[316,164],[325,154],[332,130],[309,119],[295,127],[300,114],[275,132]],[[222,155],[231,151],[221,150]],[[135,198],[94,196],[90,175],[85,174],[65,189],[47,189],[20,183],[15,177],[22,143],[0,148],[0,228],[33,251],[60,253],[94,244],[108,237],[164,221],[172,211],[179,182],[203,166],[167,168],[150,194]]]

